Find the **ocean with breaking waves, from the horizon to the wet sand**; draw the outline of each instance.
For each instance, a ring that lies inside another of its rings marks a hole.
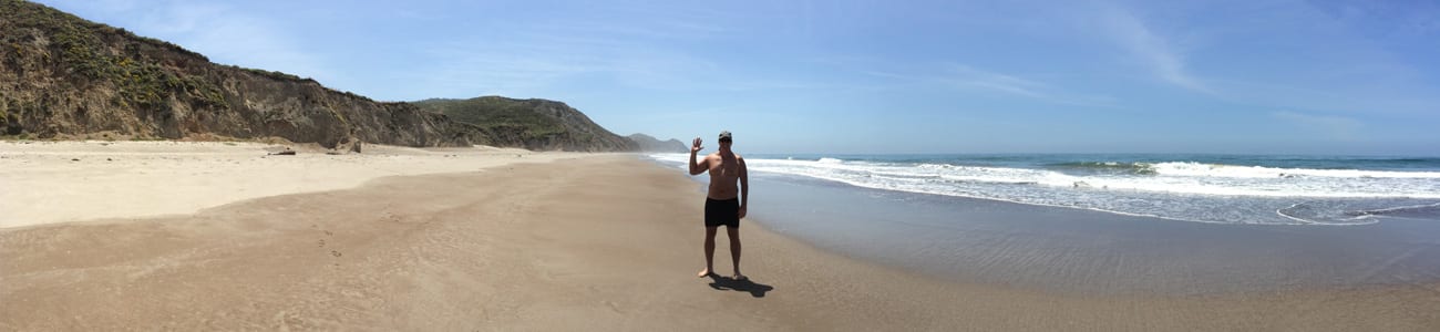
[[[684,168],[687,154],[652,160]],[[1437,157],[1204,154],[746,155],[752,177],[1220,224],[1440,220]]]

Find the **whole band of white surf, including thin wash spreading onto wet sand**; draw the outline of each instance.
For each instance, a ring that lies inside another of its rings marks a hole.
[[[688,162],[688,155],[683,154],[651,155],[651,158],[664,162]],[[1077,175],[1044,168],[844,161],[840,158],[747,158],[746,164],[756,172],[802,175],[865,188],[1005,200],[1207,223],[1361,224],[1372,221],[1355,216],[1341,216],[1344,211],[1335,206],[1316,210],[1318,213],[1299,214],[1297,208],[1290,204],[1295,204],[1293,200],[1440,200],[1440,181],[1437,181],[1440,172],[1424,171],[1156,162],[1145,164],[1152,172]],[[1120,164],[1103,165],[1117,167]],[[1135,165],[1142,167],[1142,164]],[[1303,207],[1309,208],[1309,206]],[[1286,214],[1282,210],[1292,213]],[[1270,217],[1257,220],[1254,216],[1260,214]]]

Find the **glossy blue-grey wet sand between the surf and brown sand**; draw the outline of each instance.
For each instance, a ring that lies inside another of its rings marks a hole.
[[[1207,295],[1440,282],[1440,221],[1176,221],[752,177],[752,216],[789,237],[945,279],[1076,295]],[[1440,289],[1436,289],[1440,292]]]

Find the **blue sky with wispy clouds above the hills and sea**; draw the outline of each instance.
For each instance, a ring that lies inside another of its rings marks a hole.
[[[379,101],[556,99],[742,152],[1440,155],[1428,0],[40,3]]]

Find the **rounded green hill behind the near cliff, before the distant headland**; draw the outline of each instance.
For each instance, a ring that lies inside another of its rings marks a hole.
[[[563,151],[638,149],[634,141],[606,131],[563,102],[481,96],[413,103],[423,111],[475,125],[503,145]]]

